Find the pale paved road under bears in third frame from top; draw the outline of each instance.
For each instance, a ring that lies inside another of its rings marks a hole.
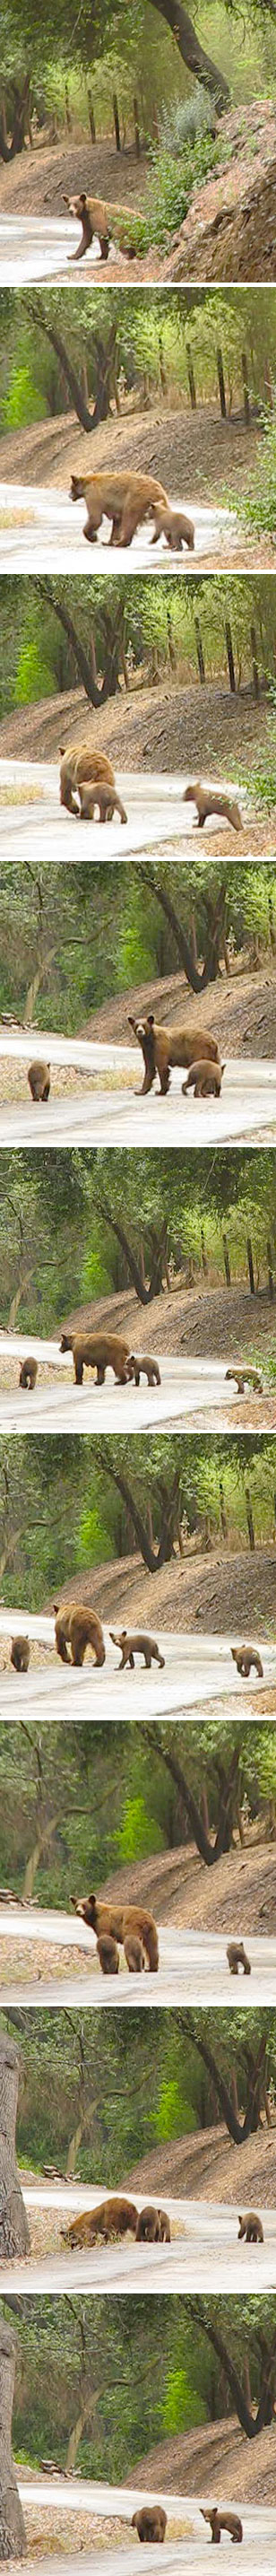
[[[90,711],[93,716],[93,711]],[[88,729],[90,729],[88,716]],[[163,858],[163,848],[173,850],[175,858],[191,855],[191,840],[199,858],[209,855],[214,837],[214,819],[204,824],[204,842],[196,827],[196,809],[183,806],[183,788],[188,786],[188,770],[168,775],[165,770],[116,770],[119,796],[126,806],[126,824],[113,822],[85,824],[75,832],[75,817],[59,806],[59,765],[54,760],[0,760],[0,858],[28,858],[36,866],[41,860],[129,860],[129,858]],[[212,781],[209,781],[212,783]],[[240,793],[237,786],[224,778],[227,793]],[[3,793],[18,788],[18,801],[3,804]],[[36,801],[34,801],[36,788]],[[31,801],[26,801],[31,791]],[[21,801],[23,796],[23,801]],[[242,796],[245,811],[245,796]],[[224,824],[222,824],[222,860],[224,860]],[[232,835],[235,853],[235,835]]]

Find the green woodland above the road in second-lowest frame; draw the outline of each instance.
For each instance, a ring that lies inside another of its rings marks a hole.
[[[152,2007],[147,2017],[132,2007],[129,2014],[36,2007],[3,2012],[5,2032],[18,2050],[21,2179],[57,2172],[103,2190],[137,2182],[144,2195],[160,2182],[175,2197],[193,2187],[199,2197],[224,2192],[235,2202],[248,2190],[250,2156],[250,2190],[273,2205],[273,2012],[250,2012],[250,2043],[242,2007],[217,2012],[217,2025],[212,2012],[191,2009]]]

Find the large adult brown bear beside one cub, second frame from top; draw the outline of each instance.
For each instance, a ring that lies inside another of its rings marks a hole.
[[[155,474],[72,474],[70,500],[85,500],[88,544],[98,536],[101,520],[111,518],[111,546],[132,546],[134,528],[142,528],[155,500],[168,502],[168,492]]]

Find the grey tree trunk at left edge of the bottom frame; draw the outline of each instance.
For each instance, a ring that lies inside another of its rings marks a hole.
[[[13,2470],[15,2334],[0,2316],[0,2561],[26,2558],[26,2522]]]

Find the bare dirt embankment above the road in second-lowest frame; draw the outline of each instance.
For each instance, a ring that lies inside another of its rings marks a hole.
[[[199,2128],[188,2138],[168,2138],[139,2156],[126,2174],[126,2192],[168,2192],[170,2200],[227,2200],[232,2208],[273,2210],[276,2205],[276,2117],[255,2138],[235,2146],[227,2128]],[[258,2287],[258,2282],[255,2282]]]

